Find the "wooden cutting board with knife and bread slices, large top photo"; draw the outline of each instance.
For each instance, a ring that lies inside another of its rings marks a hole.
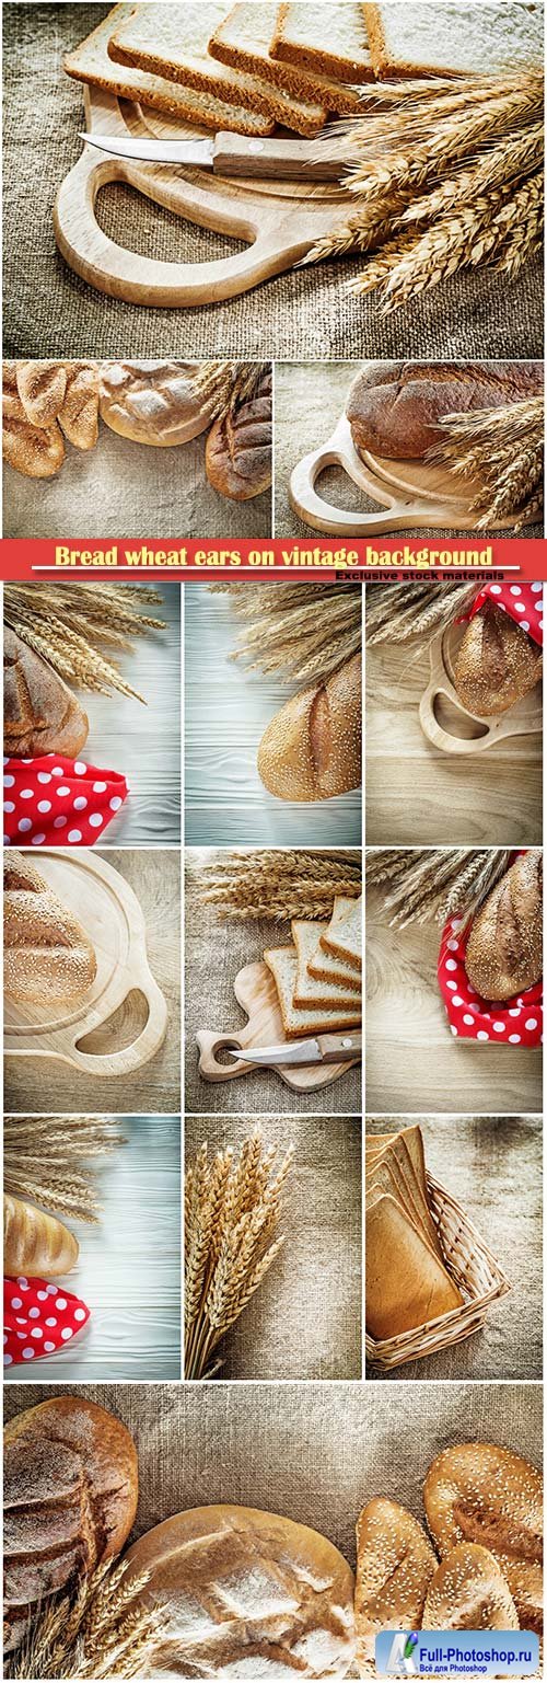
[[[99,88],[86,88],[84,108],[89,133],[170,140],[209,135]],[[244,249],[205,263],[136,256],[103,234],[96,219],[98,194],[109,182],[125,182],[199,227],[232,234],[246,242]],[[148,306],[212,305],[289,269],[342,220],[345,204],[337,182],[231,182],[207,170],[108,158],[84,146],[57,192],[54,232],[71,269],[109,298]]]

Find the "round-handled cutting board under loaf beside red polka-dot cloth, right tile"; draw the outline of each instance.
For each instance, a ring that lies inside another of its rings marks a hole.
[[[491,747],[493,742],[502,742],[503,737],[534,735],[542,730],[544,700],[540,683],[528,695],[523,695],[522,702],[515,702],[515,707],[510,707],[507,714],[481,717],[480,714],[470,714],[461,705],[459,695],[454,690],[454,661],[465,631],[466,624],[448,626],[448,631],[439,631],[429,645],[431,678],[419,703],[419,722],[428,742],[433,747],[439,747],[443,754],[483,754],[486,747]],[[443,724],[443,702],[448,702],[456,710],[461,720],[459,734],[454,715],[453,729]]]

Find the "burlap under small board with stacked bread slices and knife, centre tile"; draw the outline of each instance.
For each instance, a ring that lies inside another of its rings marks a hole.
[[[189,879],[187,879],[189,882]],[[271,1069],[249,1070],[234,1080],[210,1082],[199,1072],[195,1035],[199,1028],[219,1033],[246,1027],[237,1005],[234,980],[244,964],[263,958],[264,948],[289,944],[288,924],[259,919],[224,922],[215,905],[204,905],[187,889],[185,900],[185,1109],[189,1112],[237,1114],[241,1111],[303,1111],[306,1116],[360,1112],[360,1065],[355,1064],[332,1086],[295,1092]]]

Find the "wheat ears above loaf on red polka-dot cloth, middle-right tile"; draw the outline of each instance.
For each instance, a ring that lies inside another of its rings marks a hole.
[[[387,889],[389,924],[444,922],[454,912],[466,927],[505,875],[510,848],[372,848],[367,887]]]

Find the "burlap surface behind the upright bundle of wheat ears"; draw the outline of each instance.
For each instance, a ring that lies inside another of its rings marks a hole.
[[[241,1146],[247,1116],[194,1116],[185,1158]],[[286,1244],[219,1346],[220,1378],[360,1378],[360,1121],[264,1118],[264,1144],[293,1141],[279,1232]]]

